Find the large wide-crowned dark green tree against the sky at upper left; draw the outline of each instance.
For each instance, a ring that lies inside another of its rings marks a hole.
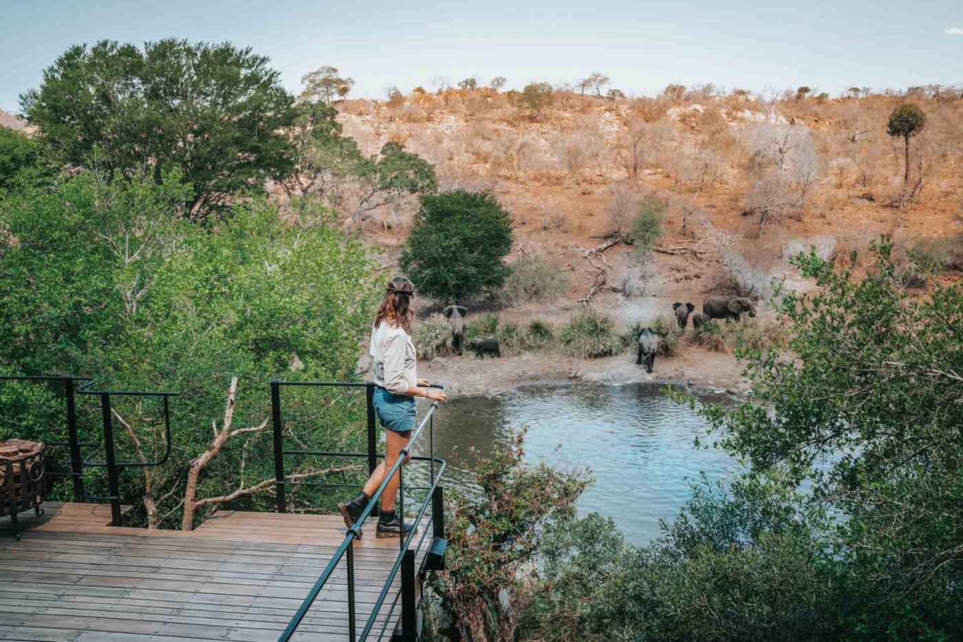
[[[191,191],[185,216],[224,211],[290,170],[292,96],[268,59],[228,43],[103,40],[73,46],[20,97],[27,119],[65,163],[144,172],[174,167]]]

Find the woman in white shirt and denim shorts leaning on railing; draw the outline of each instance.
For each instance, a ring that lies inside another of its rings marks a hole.
[[[396,276],[388,283],[388,290],[377,307],[375,327],[371,333],[373,368],[375,371],[375,414],[384,427],[387,446],[384,461],[368,478],[364,488],[356,498],[339,501],[338,510],[351,528],[357,518],[368,506],[384,475],[398,461],[402,449],[408,443],[411,431],[415,429],[415,398],[424,397],[445,401],[445,393],[428,388],[428,381],[420,380],[415,373],[417,359],[415,347],[411,343],[411,298],[415,288],[411,281]],[[402,521],[395,514],[395,498],[398,495],[396,472],[381,493],[381,511],[377,518],[377,537],[398,536],[402,528],[411,530],[409,522]],[[360,531],[358,536],[360,537]]]

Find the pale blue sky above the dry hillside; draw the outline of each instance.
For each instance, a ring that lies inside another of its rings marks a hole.
[[[292,91],[333,64],[357,96],[439,76],[501,75],[521,88],[596,70],[637,95],[672,82],[832,94],[963,84],[963,0],[0,0],[0,107],[17,111],[17,95],[71,44],[166,37],[249,45]]]

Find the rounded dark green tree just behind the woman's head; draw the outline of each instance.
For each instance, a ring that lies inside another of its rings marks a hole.
[[[511,241],[511,216],[494,194],[424,195],[401,267],[420,292],[463,301],[502,285]]]

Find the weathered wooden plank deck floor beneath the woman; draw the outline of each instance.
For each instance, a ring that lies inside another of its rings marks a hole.
[[[345,536],[330,515],[222,511],[181,532],[107,526],[102,504],[44,508],[20,514],[20,542],[0,518],[0,640],[273,641]],[[419,563],[429,527],[415,536]],[[354,544],[358,631],[399,551],[374,535],[372,521]],[[348,639],[346,578],[343,560],[295,639]],[[398,623],[398,581],[369,639]]]

